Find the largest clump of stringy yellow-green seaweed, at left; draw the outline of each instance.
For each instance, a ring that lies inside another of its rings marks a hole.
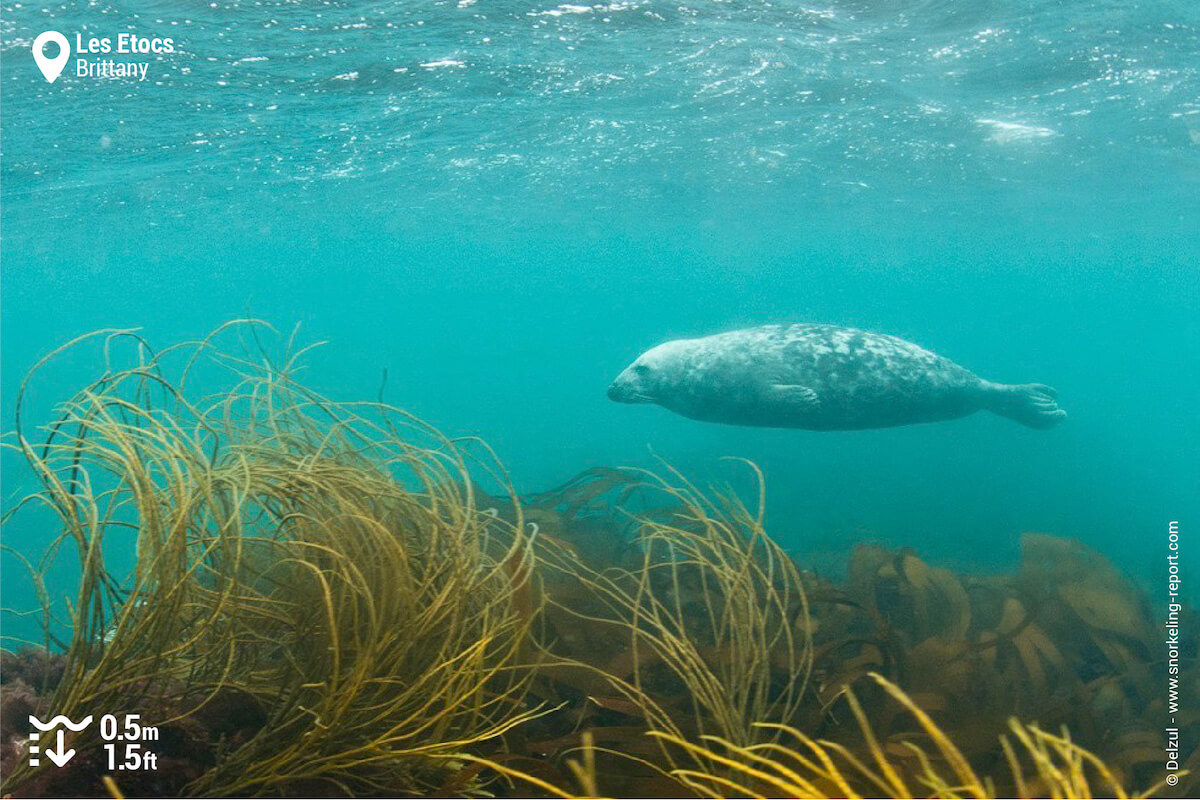
[[[437,790],[458,769],[445,756],[529,716],[506,569],[528,548],[520,523],[476,507],[462,449],[301,387],[294,355],[234,357],[214,337],[150,355],[132,332],[96,336],[104,373],[42,441],[18,425],[14,445],[43,487],[26,503],[54,510],[52,549],[80,569],[55,714],[143,710],[210,753],[169,788],[211,795]],[[136,362],[118,367],[122,343]],[[191,396],[200,369],[228,384]],[[248,720],[194,740],[230,706]],[[96,735],[78,734],[72,770],[23,763],[5,789],[100,792],[55,783],[98,781]]]

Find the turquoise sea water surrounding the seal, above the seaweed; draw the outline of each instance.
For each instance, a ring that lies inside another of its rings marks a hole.
[[[6,429],[72,336],[166,344],[248,311],[329,341],[322,391],[373,398],[386,369],[389,401],[484,437],[522,491],[751,458],[822,570],[863,539],[1009,569],[1039,530],[1156,588],[1166,522],[1200,516],[1188,0],[80,5],[2,5]],[[52,28],[176,52],[142,83],[49,84]],[[664,339],[802,320],[1051,384],[1070,417],[810,433],[605,397]],[[29,414],[97,371],[66,360]],[[28,491],[0,465],[6,501]]]

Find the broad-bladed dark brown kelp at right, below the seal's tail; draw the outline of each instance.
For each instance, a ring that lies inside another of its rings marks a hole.
[[[1142,593],[1094,551],[1026,534],[1018,572],[971,576],[859,547],[836,593],[850,604],[816,612],[824,697],[884,672],[977,759],[998,757],[995,738],[1015,715],[1068,727],[1129,786],[1160,777],[1158,626]]]

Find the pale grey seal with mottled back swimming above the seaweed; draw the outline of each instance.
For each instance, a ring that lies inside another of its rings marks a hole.
[[[608,387],[706,422],[857,431],[989,410],[1031,428],[1067,413],[1043,384],[997,384],[895,336],[839,325],[764,325],[674,339],[640,355]]]

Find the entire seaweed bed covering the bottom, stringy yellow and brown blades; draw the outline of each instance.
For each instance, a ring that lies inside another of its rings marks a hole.
[[[1180,786],[1160,783],[1148,603],[1079,542],[1028,534],[1021,569],[990,576],[859,546],[833,583],[769,536],[752,464],[750,505],[670,465],[518,498],[484,443],[305,387],[306,348],[293,335],[275,355],[268,330],[239,320],[161,351],[100,331],[23,384],[98,345],[96,380],[36,434],[18,403],[5,444],[41,483],[5,524],[41,505],[61,533],[29,564],[46,645],[0,662],[4,793],[1200,786],[1195,750]],[[66,557],[79,581],[62,602],[42,575]],[[95,728],[67,768],[30,766],[23,720],[52,709],[140,712],[168,769],[116,780]],[[1200,715],[1180,727],[1195,741]]]

